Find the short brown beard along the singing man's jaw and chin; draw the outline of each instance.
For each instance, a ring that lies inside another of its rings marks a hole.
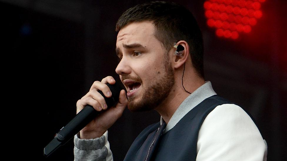
[[[169,60],[165,60],[165,73],[157,77],[154,84],[143,88],[140,100],[135,101],[134,97],[129,98],[128,109],[130,111],[149,111],[158,107],[168,97],[174,85],[174,73]],[[139,77],[134,80],[141,82]]]

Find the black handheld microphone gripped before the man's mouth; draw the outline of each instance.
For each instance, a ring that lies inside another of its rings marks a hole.
[[[114,106],[119,101],[120,91],[123,89],[119,83],[106,84],[112,93],[112,96],[107,98],[102,91],[98,91],[105,99],[109,107]],[[104,112],[96,111],[92,106],[86,105],[66,126],[56,134],[55,138],[44,148],[44,156],[48,157],[60,146],[66,144],[74,137],[81,129],[83,129],[89,122],[91,122],[97,115]]]

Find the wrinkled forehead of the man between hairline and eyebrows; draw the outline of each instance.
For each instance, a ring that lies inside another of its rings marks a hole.
[[[157,41],[154,36],[155,27],[150,21],[129,23],[122,28],[117,36],[116,46],[122,44],[140,43],[148,45],[150,42]]]

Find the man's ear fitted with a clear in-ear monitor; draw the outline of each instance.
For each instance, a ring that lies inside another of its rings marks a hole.
[[[180,68],[187,61],[189,57],[189,46],[188,43],[184,40],[178,41],[176,45],[183,46],[184,50],[181,55],[174,55],[173,53],[176,51],[176,48],[172,49],[172,65],[175,69]]]

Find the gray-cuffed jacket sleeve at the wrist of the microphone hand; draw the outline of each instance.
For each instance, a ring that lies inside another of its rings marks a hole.
[[[74,161],[113,161],[108,142],[108,131],[100,138],[80,139],[74,136]]]

